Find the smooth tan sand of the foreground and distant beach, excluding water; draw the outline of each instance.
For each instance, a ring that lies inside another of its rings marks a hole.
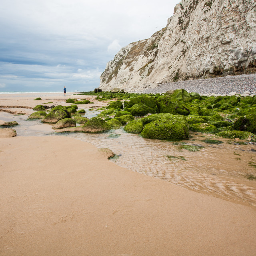
[[[0,94],[0,105],[79,97]],[[64,136],[0,138],[0,255],[256,255],[255,207],[132,172],[108,154]]]

